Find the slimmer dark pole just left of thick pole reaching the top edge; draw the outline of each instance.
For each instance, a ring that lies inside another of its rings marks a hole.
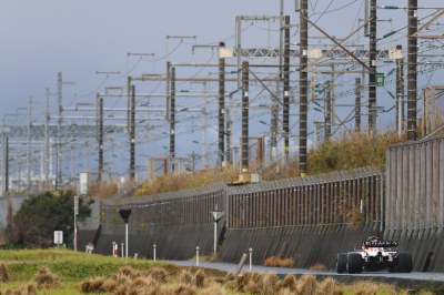
[[[290,16],[285,16],[284,28],[284,99],[282,129],[284,131],[284,161],[289,161],[290,145]]]

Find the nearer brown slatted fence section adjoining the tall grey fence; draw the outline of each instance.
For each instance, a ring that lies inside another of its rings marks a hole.
[[[230,187],[228,228],[377,222],[381,180],[380,171],[366,167]]]

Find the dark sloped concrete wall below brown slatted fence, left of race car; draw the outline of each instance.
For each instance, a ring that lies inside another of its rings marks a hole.
[[[377,233],[377,225],[350,228],[347,225],[274,227],[255,230],[228,230],[219,257],[238,262],[242,253],[253,248],[253,263],[262,265],[265,258],[292,257],[294,267],[307,268],[322,263],[334,269],[336,254],[361,247],[369,235]]]

